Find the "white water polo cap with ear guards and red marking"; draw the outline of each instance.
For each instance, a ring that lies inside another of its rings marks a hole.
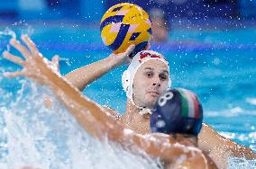
[[[160,60],[169,68],[168,61],[160,53],[152,50],[142,50],[133,57],[129,67],[123,72],[122,76],[123,90],[126,92],[126,96],[131,100],[133,105],[142,110],[140,114],[151,113],[151,110],[138,106],[133,101],[133,80],[137,70],[142,66],[143,63],[149,60]],[[170,86],[171,80],[169,78],[168,88]]]

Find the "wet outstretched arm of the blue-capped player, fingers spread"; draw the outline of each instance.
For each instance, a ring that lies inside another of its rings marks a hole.
[[[16,40],[12,40],[11,44],[21,51],[26,60],[17,58],[8,52],[4,53],[5,58],[23,66],[23,70],[16,73],[6,73],[5,76],[26,76],[49,86],[78,120],[78,123],[87,129],[87,132],[93,137],[100,139],[107,137],[134,152],[136,152],[134,147],[139,147],[149,155],[167,161],[176,162],[178,157],[186,156],[186,166],[188,166],[187,164],[194,164],[193,166],[196,164],[196,166],[204,168],[215,167],[215,164],[208,163],[210,160],[207,160],[207,156],[186,140],[178,141],[168,135],[139,135],[132,130],[124,129],[121,123],[104,113],[104,109],[100,105],[87,99],[68,81],[54,72],[50,62],[41,56],[41,53],[27,36],[23,36],[23,41],[31,49],[30,51]],[[180,165],[184,165],[184,163]]]

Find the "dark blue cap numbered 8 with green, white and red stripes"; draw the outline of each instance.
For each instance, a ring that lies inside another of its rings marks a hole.
[[[197,95],[187,89],[169,89],[160,95],[151,114],[151,131],[198,135],[203,109]]]

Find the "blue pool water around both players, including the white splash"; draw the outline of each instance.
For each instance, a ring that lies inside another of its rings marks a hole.
[[[0,28],[5,30],[4,25]],[[20,33],[32,35],[44,57],[58,54],[62,75],[111,53],[103,45],[96,26],[46,22],[18,24],[9,29],[17,37]],[[169,33],[169,41],[151,44],[151,49],[168,58],[173,87],[197,93],[207,124],[255,151],[256,28],[203,30],[174,29]],[[9,38],[0,35],[1,53]],[[125,68],[109,72],[90,84],[84,93],[123,113],[126,98],[120,75]],[[87,136],[61,103],[55,101],[53,110],[45,109],[42,96],[53,95],[46,87],[22,77],[8,79],[2,74],[18,69],[1,56],[0,168],[125,168],[131,162],[132,168],[157,168],[157,161],[138,158],[107,140],[102,144]],[[255,163],[235,159],[230,167],[253,168]]]

